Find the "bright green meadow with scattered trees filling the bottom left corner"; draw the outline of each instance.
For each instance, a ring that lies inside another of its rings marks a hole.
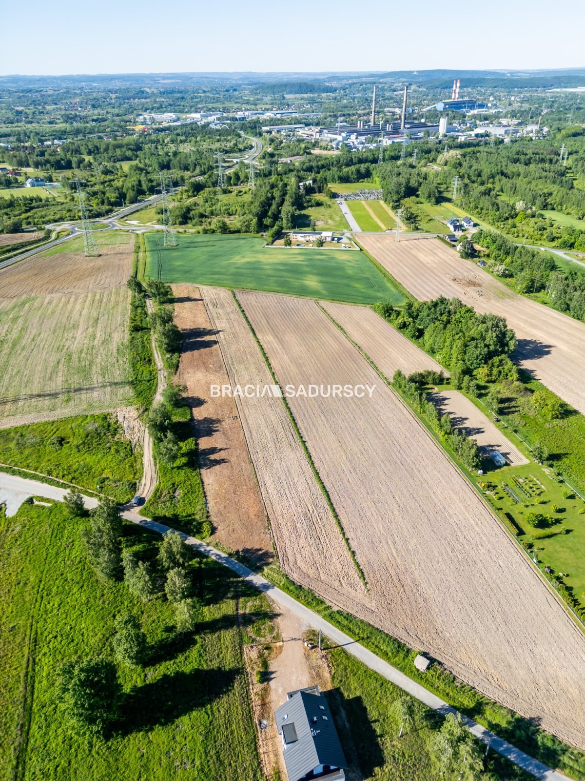
[[[143,603],[124,583],[97,579],[80,540],[84,524],[62,505],[23,505],[0,524],[0,777],[259,779],[242,649],[251,641],[246,625],[265,622],[268,604],[225,568],[196,558],[189,572],[202,603],[197,631],[179,634],[160,581]],[[160,537],[137,526],[124,531],[125,546],[154,563]],[[69,724],[56,676],[76,658],[113,662],[114,622],[124,613],[139,619],[147,658],[117,665],[121,715],[111,735],[86,738]]]

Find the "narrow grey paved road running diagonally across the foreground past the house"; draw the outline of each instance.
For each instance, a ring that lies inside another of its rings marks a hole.
[[[23,494],[31,496],[42,496],[56,501],[62,501],[63,496],[67,493],[63,488],[55,488],[54,486],[46,485],[45,483],[37,483],[36,480],[26,480],[23,477],[9,475],[4,472],[0,472],[0,488],[20,491]],[[97,505],[97,499],[94,498],[83,497],[83,501],[85,502],[85,506],[89,509],[94,508]],[[150,519],[144,518],[143,515],[138,515],[136,512],[123,511],[122,518],[131,523],[136,523],[138,526],[144,526],[145,529],[149,529],[158,534],[165,534],[172,530],[170,526],[164,526],[162,523],[151,521]],[[183,532],[179,532],[179,534],[183,537],[186,544],[195,548],[204,556],[213,558],[219,564],[228,567],[232,572],[236,572],[236,575],[243,578],[243,580],[246,580],[247,583],[250,583],[250,586],[267,594],[272,601],[278,604],[278,606],[293,612],[308,626],[311,626],[314,629],[321,629],[321,632],[330,640],[333,640],[333,642],[337,643],[339,646],[344,647],[348,654],[359,659],[360,662],[363,662],[363,664],[371,670],[378,672],[381,676],[394,683],[395,686],[399,686],[403,691],[406,691],[408,694],[425,704],[427,708],[431,708],[433,711],[442,715],[456,712],[455,708],[452,708],[452,706],[442,701],[439,697],[436,697],[425,689],[424,686],[421,686],[420,683],[409,678],[399,669],[392,667],[392,665],[385,662],[384,659],[376,656],[372,651],[369,651],[366,647],[357,643],[356,640],[353,640],[352,637],[349,637],[349,635],[346,635],[340,629],[337,629],[336,626],[333,626],[333,624],[326,621],[321,615],[306,608],[305,605],[296,601],[293,597],[290,597],[285,591],[273,586],[272,583],[261,575],[257,575],[256,572],[253,572],[245,565],[240,564],[236,559],[230,558],[228,555],[225,555],[225,553],[218,551],[215,547],[211,547],[211,545],[207,545],[207,543],[197,540],[196,537],[190,537]],[[476,736],[482,743],[489,745],[493,751],[497,751],[498,754],[502,754],[503,757],[529,772],[531,776],[541,779],[541,781],[571,781],[571,779],[564,776],[562,773],[548,768],[547,765],[544,765],[542,762],[530,757],[523,751],[519,751],[519,749],[512,746],[512,744],[502,740],[502,738],[491,733],[488,729],[480,726],[480,724],[477,724],[477,722],[474,722],[472,719],[468,719],[463,714],[462,716],[467,729],[470,730],[472,735]]]

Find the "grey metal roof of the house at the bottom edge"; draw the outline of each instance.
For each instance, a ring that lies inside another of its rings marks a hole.
[[[327,700],[319,694],[299,691],[275,710],[278,733],[294,723],[298,740],[285,746],[284,758],[289,781],[299,781],[317,765],[346,768],[339,736]],[[292,730],[286,730],[290,733]],[[288,738],[287,735],[285,737]]]

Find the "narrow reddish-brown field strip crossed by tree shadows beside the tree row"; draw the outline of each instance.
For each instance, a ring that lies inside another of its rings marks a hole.
[[[248,558],[270,560],[268,520],[236,401],[210,396],[211,384],[229,383],[218,338],[198,288],[174,285],[173,293],[175,323],[183,333],[176,381],[187,389],[212,538]]]

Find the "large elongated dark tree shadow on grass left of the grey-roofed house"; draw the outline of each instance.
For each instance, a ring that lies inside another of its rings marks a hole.
[[[135,686],[126,695],[119,732],[129,735],[172,724],[217,700],[232,688],[241,672],[215,668],[165,673],[154,683]]]

